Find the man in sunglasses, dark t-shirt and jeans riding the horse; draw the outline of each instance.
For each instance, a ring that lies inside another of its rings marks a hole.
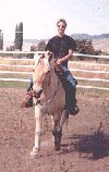
[[[76,51],[75,40],[65,35],[66,22],[64,19],[60,19],[57,22],[58,35],[48,40],[46,46],[46,54],[53,53],[56,64],[61,69],[61,73],[58,73],[62,86],[65,90],[65,111],[68,114],[75,115],[78,113],[78,107],[76,106],[76,79],[72,76],[68,69],[68,62],[73,57],[73,51]],[[27,99],[22,103],[22,107],[33,107],[33,99],[31,90],[33,89],[33,79],[27,89]]]

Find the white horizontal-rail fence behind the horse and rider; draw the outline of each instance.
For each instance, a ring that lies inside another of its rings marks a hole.
[[[28,78],[5,77],[7,74],[32,75],[34,59],[29,58],[4,58],[2,54],[31,54],[45,53],[43,51],[22,52],[22,51],[0,51],[0,81],[1,82],[29,82]],[[77,57],[82,57],[77,60]],[[87,60],[83,60],[83,57]],[[90,59],[90,60],[89,60]],[[97,59],[97,60],[96,60]],[[100,63],[99,59],[105,63]],[[109,90],[109,57],[108,56],[90,56],[74,53],[74,58],[69,62],[69,69],[73,76],[78,81],[78,88]],[[5,75],[5,76],[4,76]],[[3,76],[3,77],[2,77]]]

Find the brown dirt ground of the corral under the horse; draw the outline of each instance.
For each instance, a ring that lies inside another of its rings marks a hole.
[[[34,108],[20,108],[25,94],[0,88],[0,172],[109,172],[109,96],[77,94],[80,114],[63,126],[60,151],[44,118],[40,157],[31,159],[35,118]]]

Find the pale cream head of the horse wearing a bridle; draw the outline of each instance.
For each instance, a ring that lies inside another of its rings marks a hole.
[[[49,86],[51,71],[53,70],[53,56],[41,54],[35,58],[35,67],[33,73],[33,94],[35,98],[40,98],[45,87]]]

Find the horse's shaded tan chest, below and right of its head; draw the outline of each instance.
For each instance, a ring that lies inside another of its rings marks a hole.
[[[62,110],[65,105],[65,93],[56,73],[52,73],[50,84],[45,88],[41,96],[41,102],[50,114],[55,114],[58,110]]]

